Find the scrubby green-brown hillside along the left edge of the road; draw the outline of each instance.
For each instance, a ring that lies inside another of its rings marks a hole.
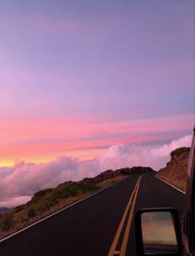
[[[100,188],[105,188],[127,175],[154,172],[152,168],[134,167],[107,170],[95,178],[84,178],[79,182],[65,182],[56,188],[46,188],[34,194],[32,200],[21,206],[0,213],[0,238],[74,203]]]

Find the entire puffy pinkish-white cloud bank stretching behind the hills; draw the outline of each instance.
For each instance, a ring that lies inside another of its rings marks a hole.
[[[160,147],[141,144],[119,144],[108,148],[94,160],[80,161],[61,157],[48,163],[18,162],[13,167],[0,168],[0,207],[14,207],[26,203],[33,193],[55,187],[68,180],[94,177],[105,169],[149,166],[158,170],[169,160],[169,153],[175,148],[189,147],[192,136],[173,140]]]

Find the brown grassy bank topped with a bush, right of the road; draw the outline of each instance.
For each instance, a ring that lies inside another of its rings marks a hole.
[[[186,173],[188,169],[188,158],[190,148],[177,148],[173,150],[170,162],[165,168],[158,171],[157,177],[162,178],[173,186],[186,190]]]

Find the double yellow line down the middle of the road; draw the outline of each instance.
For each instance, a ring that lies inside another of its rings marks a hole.
[[[134,206],[135,206],[136,198],[137,198],[138,191],[139,191],[140,180],[141,180],[141,177],[139,177],[137,183],[134,186],[134,191],[129,198],[129,202],[127,204],[127,207],[125,208],[124,215],[119,223],[119,228],[117,229],[117,232],[115,233],[115,238],[111,244],[108,256],[114,256],[114,255],[124,256],[126,253],[126,248],[127,248],[128,238],[129,238],[129,231],[130,231],[130,227],[131,227],[131,223],[132,223],[132,219],[133,219]],[[129,213],[129,217],[127,216],[128,213]],[[126,228],[124,231],[124,238],[122,240],[120,249],[117,250],[117,245],[119,243],[119,237],[120,237],[122,229],[124,227],[124,222],[127,218],[128,218],[128,221],[127,221]]]

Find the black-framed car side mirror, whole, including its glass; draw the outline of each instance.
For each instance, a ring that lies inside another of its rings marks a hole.
[[[135,213],[137,255],[181,255],[182,243],[178,211],[149,208]]]

